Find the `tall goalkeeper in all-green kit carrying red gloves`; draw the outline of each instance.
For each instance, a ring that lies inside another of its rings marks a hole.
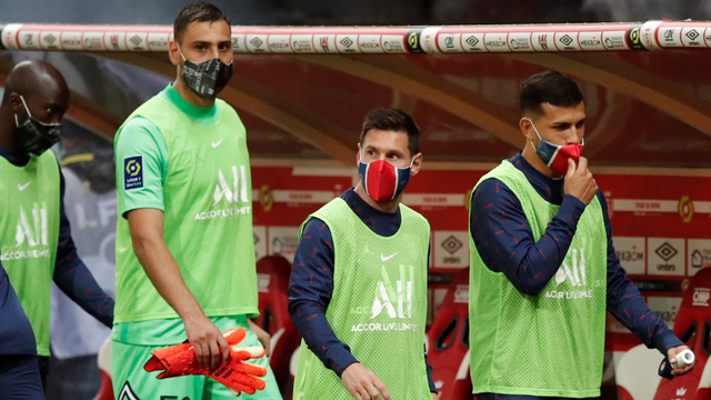
[[[112,339],[117,399],[231,399],[204,376],[158,380],[151,351],[192,344],[198,362],[228,362],[222,331],[247,329],[241,346],[269,351],[259,314],[252,190],[244,126],[216,96],[232,76],[231,31],[214,6],[184,7],[169,58],[176,81],[139,107],[116,139],[119,222]],[[269,367],[268,359],[258,363]],[[281,400],[267,388],[246,399]]]

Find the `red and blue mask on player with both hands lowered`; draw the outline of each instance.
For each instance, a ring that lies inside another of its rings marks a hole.
[[[414,162],[414,157],[412,162]],[[363,182],[365,193],[378,202],[397,199],[398,196],[402,194],[410,181],[412,162],[408,168],[398,168],[385,160],[370,163],[359,161],[358,174]]]

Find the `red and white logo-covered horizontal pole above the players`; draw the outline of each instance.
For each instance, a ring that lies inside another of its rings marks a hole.
[[[171,26],[0,26],[0,50],[168,50]],[[462,26],[232,27],[236,53],[475,53],[711,48],[711,22]]]

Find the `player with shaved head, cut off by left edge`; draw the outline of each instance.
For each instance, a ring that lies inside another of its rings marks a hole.
[[[69,98],[62,73],[47,61],[32,60],[12,68],[0,103],[0,261],[32,326],[39,356],[32,362],[39,364],[44,386],[52,282],[106,327],[113,323],[113,300],[77,252],[64,208],[64,177],[49,150],[62,138]],[[0,316],[0,326],[19,323]],[[0,354],[26,354],[17,353],[12,341],[7,346],[0,343]],[[10,367],[0,360],[0,371]],[[3,390],[13,391],[18,380],[2,383],[0,398]]]

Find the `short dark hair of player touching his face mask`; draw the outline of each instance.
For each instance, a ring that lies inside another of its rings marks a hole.
[[[527,112],[543,113],[543,103],[557,107],[578,106],[582,92],[572,79],[558,71],[543,71],[527,79],[521,84],[519,108],[521,116]]]

